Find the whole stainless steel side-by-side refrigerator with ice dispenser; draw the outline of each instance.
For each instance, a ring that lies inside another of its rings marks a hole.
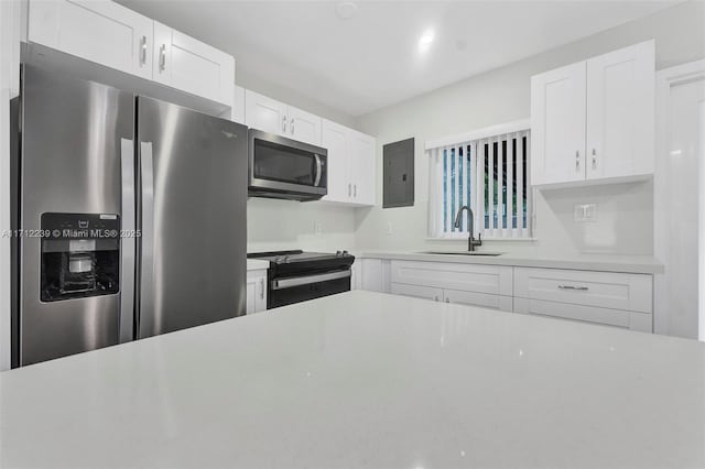
[[[247,128],[23,67],[13,366],[245,314]]]

